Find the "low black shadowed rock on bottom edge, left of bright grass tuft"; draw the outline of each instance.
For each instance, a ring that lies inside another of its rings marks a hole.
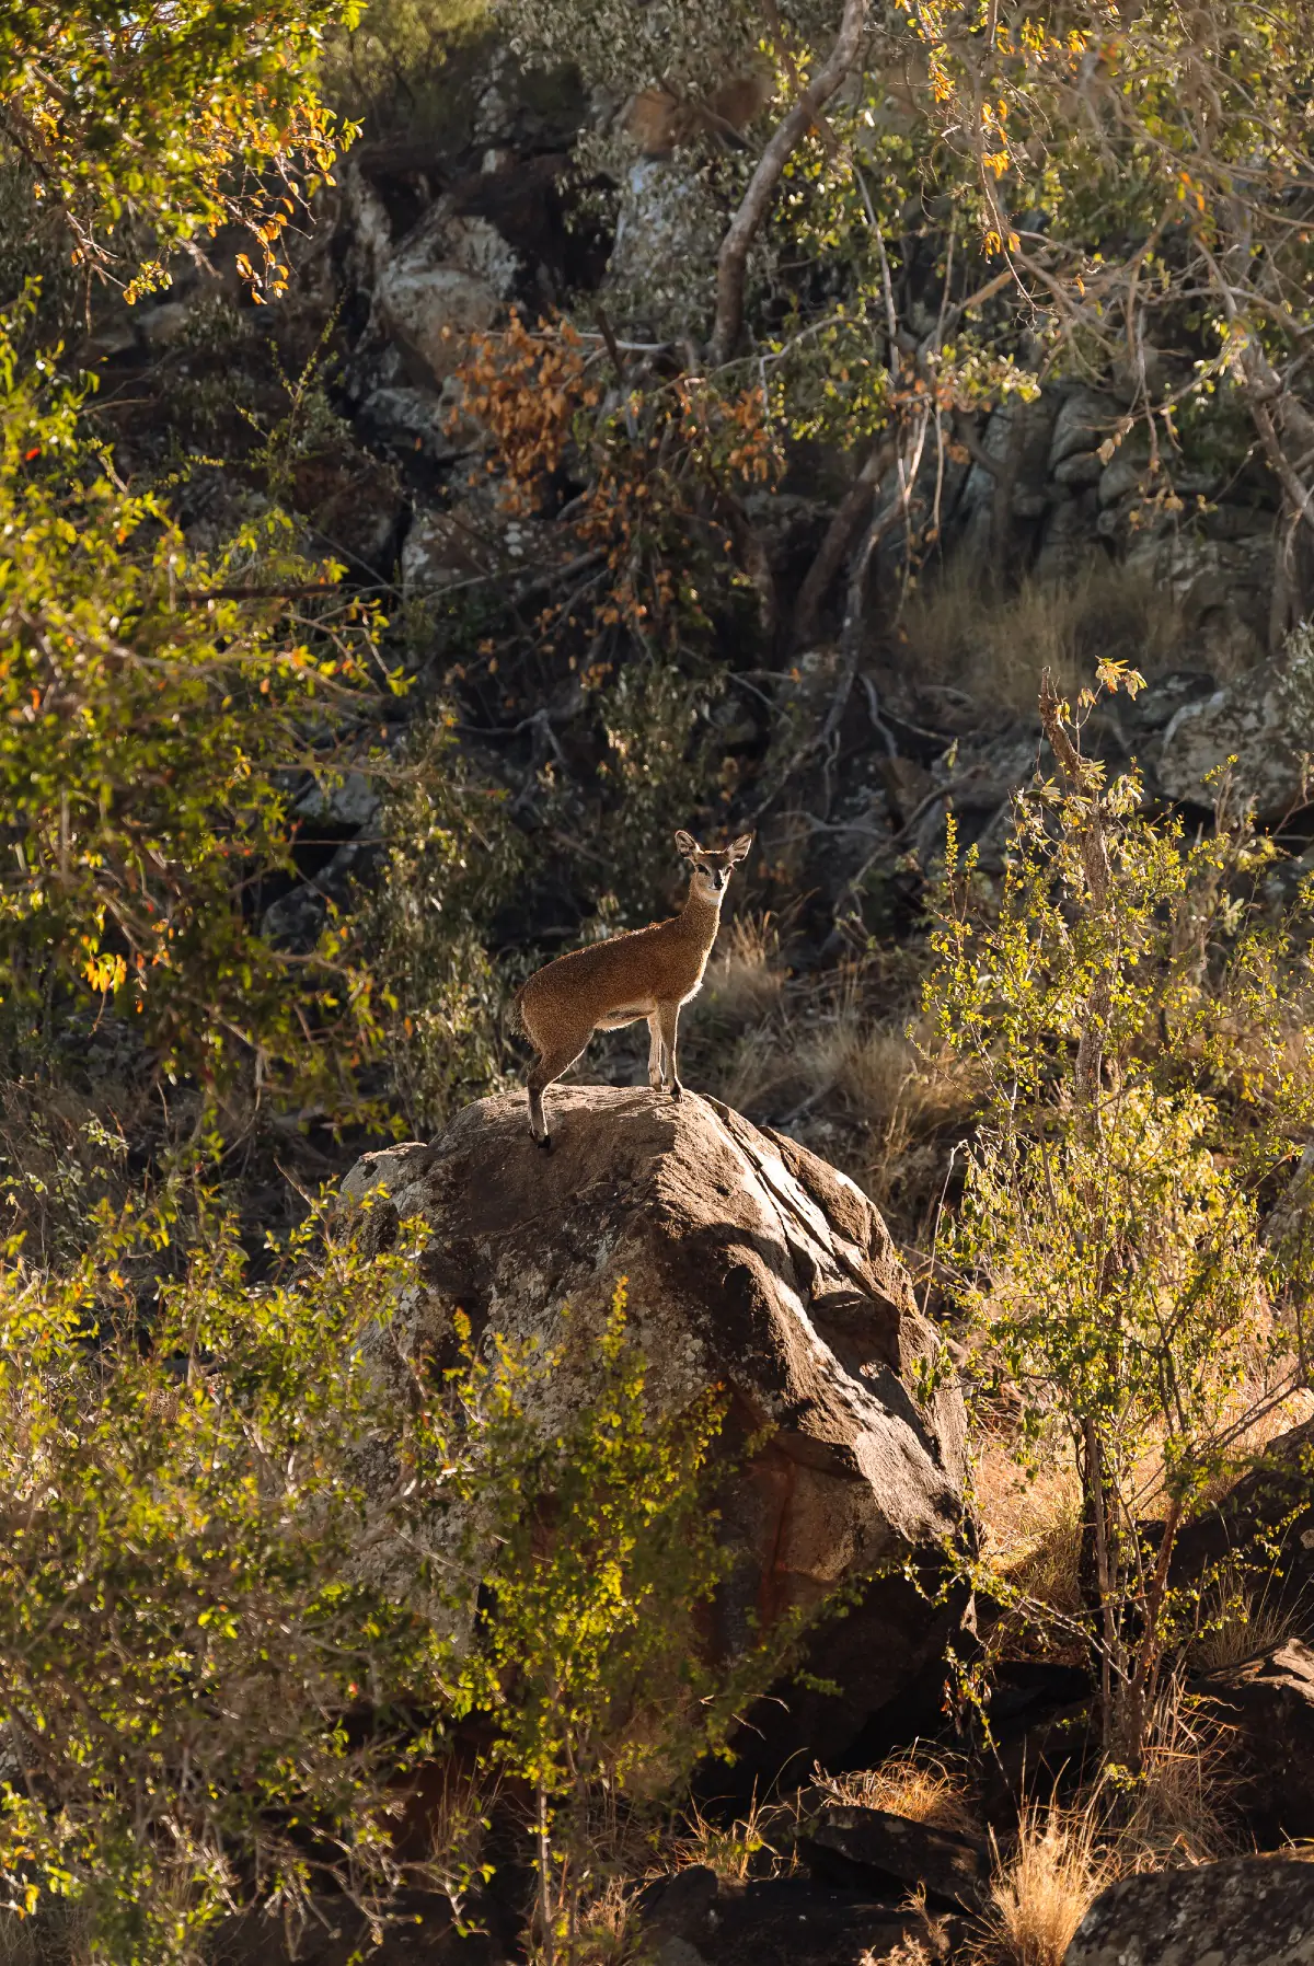
[[[864,1966],[913,1938],[948,1956],[948,1933],[925,1919],[806,1878],[730,1883],[694,1866],[651,1883],[639,1917],[655,1966]]]

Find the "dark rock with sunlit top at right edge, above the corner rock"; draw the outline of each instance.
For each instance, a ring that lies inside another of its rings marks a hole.
[[[1231,1730],[1229,1750],[1249,1777],[1237,1797],[1259,1844],[1314,1836],[1314,1651],[1300,1640],[1210,1673]]]

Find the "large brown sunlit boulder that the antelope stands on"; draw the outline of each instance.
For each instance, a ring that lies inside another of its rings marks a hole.
[[[726,1480],[722,1520],[746,1561],[722,1592],[718,1648],[844,1579],[907,1557],[934,1565],[962,1524],[962,1400],[940,1388],[923,1406],[911,1390],[934,1335],[866,1195],[716,1101],[614,1087],[551,1097],[551,1156],[509,1095],[468,1107],[433,1146],[370,1154],[348,1174],[348,1197],[388,1189],[395,1215],[376,1207],[374,1233],[397,1215],[433,1225],[417,1343],[441,1343],[460,1307],[476,1341],[553,1345],[567,1303],[578,1337],[629,1280],[629,1325],[663,1408],[722,1386],[726,1449],[769,1435]],[[568,1396],[557,1380],[553,1398]],[[842,1695],[771,1705],[742,1765],[844,1752],[960,1618],[962,1600],[932,1608],[903,1577],[879,1577],[810,1644],[812,1671]]]

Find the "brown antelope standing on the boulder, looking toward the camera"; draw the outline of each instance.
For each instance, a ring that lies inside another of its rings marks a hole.
[[[549,1152],[553,1138],[543,1119],[543,1093],[580,1058],[594,1030],[620,1030],[645,1018],[651,1038],[647,1083],[673,1099],[685,1091],[675,1068],[681,1005],[702,989],[730,869],[747,855],[753,836],[740,834],[728,847],[700,847],[692,834],[679,832],[675,843],[692,867],[688,900],[679,914],[588,950],[570,950],[535,969],[515,993],[519,1028],[539,1054],[527,1081],[529,1130]]]

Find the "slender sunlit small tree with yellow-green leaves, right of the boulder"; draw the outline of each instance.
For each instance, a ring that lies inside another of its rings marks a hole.
[[[1273,847],[1239,822],[1186,841],[1135,777],[1104,784],[1048,682],[1041,718],[1060,777],[1019,800],[997,906],[950,834],[926,1009],[984,1117],[946,1254],[1019,1392],[1023,1459],[1068,1439],[1104,1746],[1135,1775],[1182,1636],[1176,1532],[1304,1384],[1300,1284],[1263,1256],[1257,1191],[1310,1123],[1310,999],[1300,944],[1245,898]]]

